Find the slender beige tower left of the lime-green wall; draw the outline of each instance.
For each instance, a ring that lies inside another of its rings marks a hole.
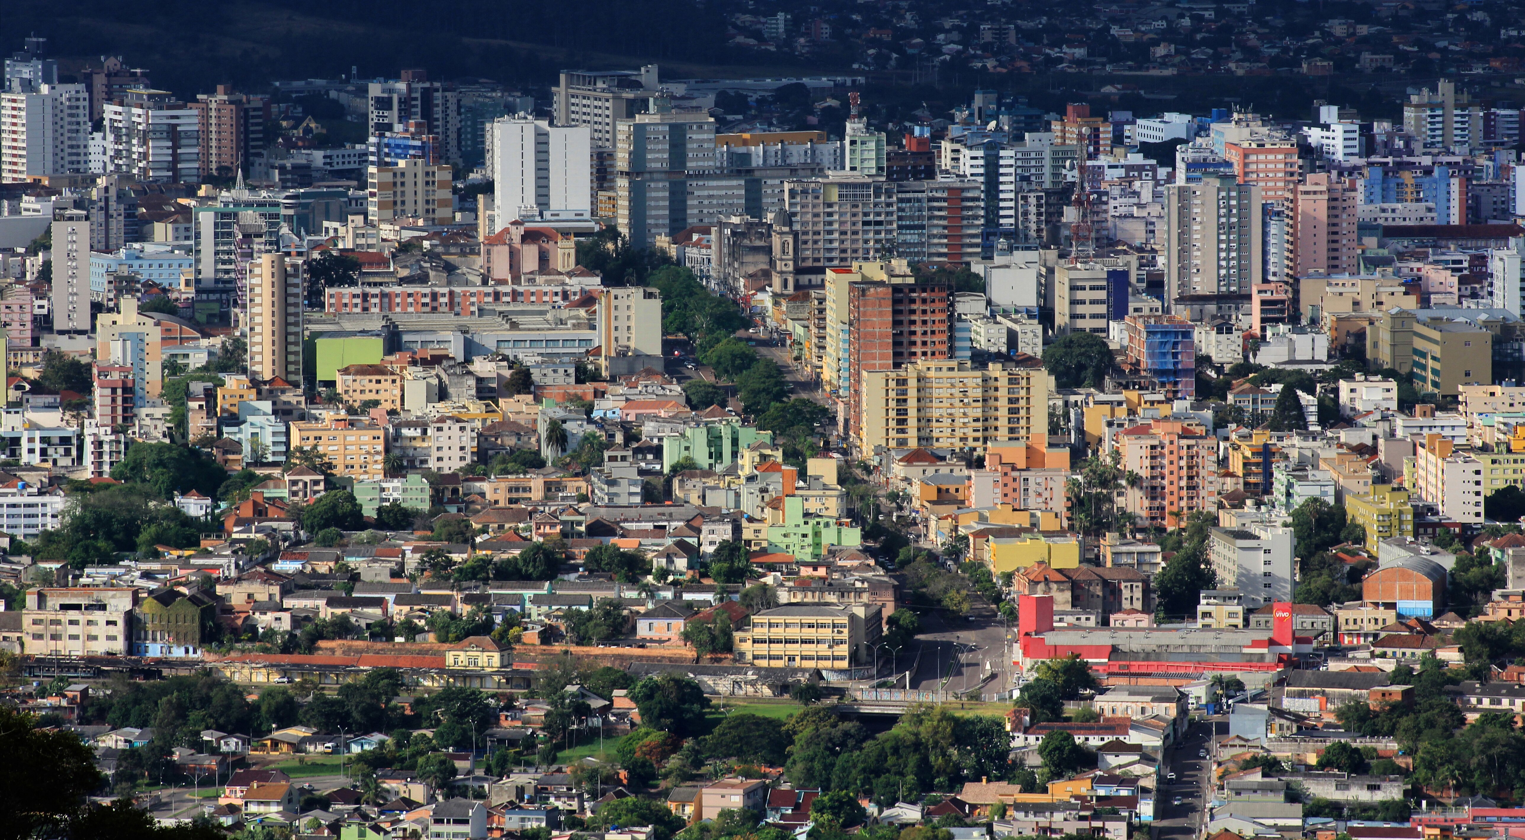
[[[249,375],[302,381],[302,262],[282,253],[249,265]]]

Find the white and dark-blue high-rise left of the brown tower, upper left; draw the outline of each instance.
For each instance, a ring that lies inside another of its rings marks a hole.
[[[133,88],[102,108],[105,171],[140,181],[197,183],[201,114],[163,90]]]

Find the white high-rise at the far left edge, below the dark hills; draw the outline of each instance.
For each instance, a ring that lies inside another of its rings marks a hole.
[[[82,84],[0,93],[0,181],[90,171],[90,95]]]

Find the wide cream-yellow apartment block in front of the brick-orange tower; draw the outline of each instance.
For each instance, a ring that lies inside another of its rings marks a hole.
[[[1025,357],[976,367],[921,360],[898,370],[865,370],[857,412],[859,453],[875,447],[984,448],[1048,434],[1048,374]]]

